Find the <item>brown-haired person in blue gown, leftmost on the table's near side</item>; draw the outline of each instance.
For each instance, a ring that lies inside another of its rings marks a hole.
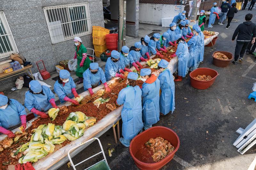
[[[130,72],[127,76],[127,87],[122,89],[116,100],[117,105],[124,105],[121,111],[122,117],[122,135],[119,141],[126,147],[130,146],[130,142],[139,132],[142,131],[142,105],[141,90],[136,85],[138,74]]]

